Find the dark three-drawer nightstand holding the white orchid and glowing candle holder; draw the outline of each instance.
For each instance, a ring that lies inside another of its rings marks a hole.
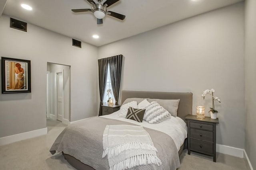
[[[216,162],[216,124],[219,119],[197,119],[196,115],[187,115],[188,121],[188,154],[190,151],[213,156]]]

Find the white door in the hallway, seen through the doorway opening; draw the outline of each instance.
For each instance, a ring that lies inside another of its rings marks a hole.
[[[57,73],[57,120],[63,119],[63,74]]]

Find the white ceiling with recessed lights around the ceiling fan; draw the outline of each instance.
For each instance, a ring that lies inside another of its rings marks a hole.
[[[120,0],[108,10],[124,14],[126,19],[106,16],[102,25],[96,24],[92,12],[71,11],[91,8],[86,0],[8,0],[4,14],[101,46],[240,1],[243,0]],[[22,3],[33,10],[24,10]],[[93,34],[100,38],[93,39]]]

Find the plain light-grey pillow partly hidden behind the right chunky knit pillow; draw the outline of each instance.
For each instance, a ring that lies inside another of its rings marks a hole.
[[[168,99],[148,99],[148,102],[158,102],[160,106],[164,107],[172,116],[177,116],[180,99],[168,100]]]

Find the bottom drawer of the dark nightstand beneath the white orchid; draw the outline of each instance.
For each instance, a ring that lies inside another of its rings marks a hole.
[[[213,154],[213,143],[190,139],[190,149],[205,154]]]

